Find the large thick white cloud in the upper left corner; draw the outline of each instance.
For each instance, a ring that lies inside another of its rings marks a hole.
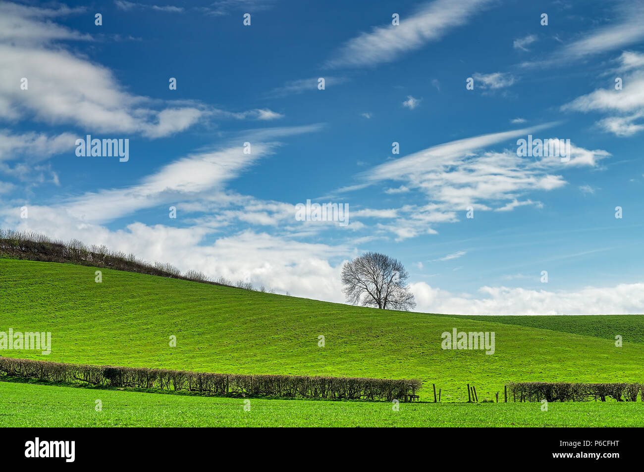
[[[137,132],[156,138],[183,131],[207,115],[204,107],[172,104],[161,111],[132,95],[109,69],[53,41],[89,40],[52,23],[69,9],[0,4],[0,118],[72,123],[90,132]],[[28,89],[19,87],[27,78]]]

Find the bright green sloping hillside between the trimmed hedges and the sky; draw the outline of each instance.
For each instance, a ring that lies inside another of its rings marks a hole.
[[[623,329],[616,334],[625,343],[616,348],[585,327],[582,334],[554,331],[557,320],[541,329],[379,311],[109,269],[98,284],[94,272],[0,259],[0,331],[50,331],[53,343],[50,356],[0,354],[242,374],[416,377],[426,385],[421,397],[433,398],[435,383],[443,401],[467,399],[466,383],[481,399],[502,395],[507,381],[644,381],[644,350]],[[632,318],[636,329],[642,318]],[[495,354],[442,350],[441,333],[453,327],[494,331]],[[325,347],[318,347],[320,335]]]

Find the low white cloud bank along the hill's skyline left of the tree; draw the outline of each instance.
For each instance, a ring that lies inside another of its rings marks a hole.
[[[212,241],[214,230],[200,224],[173,228],[135,222],[122,230],[111,231],[53,207],[30,206],[29,212],[29,219],[14,217],[14,224],[9,227],[45,233],[64,241],[79,239],[90,245],[104,244],[111,250],[134,253],[140,259],[169,262],[182,271],[196,269],[232,282],[246,280],[279,293],[289,291],[291,295],[317,300],[344,301],[340,261],[352,253],[346,246],[310,244],[251,230]],[[0,221],[2,213],[0,210]],[[6,225],[5,222],[3,226],[6,228]],[[329,259],[339,259],[339,262],[332,265]]]

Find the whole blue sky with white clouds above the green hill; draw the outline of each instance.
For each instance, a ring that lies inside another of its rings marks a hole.
[[[0,3],[0,226],[335,302],[372,250],[419,311],[643,313],[642,24],[640,1]],[[78,157],[86,134],[129,160]],[[517,156],[529,134],[569,161]],[[348,224],[298,221],[307,199]]]

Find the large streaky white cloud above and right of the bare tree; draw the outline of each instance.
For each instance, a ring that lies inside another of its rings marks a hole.
[[[464,215],[469,206],[478,211],[498,212],[526,205],[541,208],[540,201],[520,197],[562,188],[566,181],[560,172],[576,167],[597,167],[601,159],[611,155],[605,150],[587,150],[573,143],[567,163],[558,158],[518,157],[516,147],[502,152],[480,151],[494,143],[525,138],[552,124],[451,141],[387,161],[359,174],[366,185],[402,181],[401,190],[421,192],[428,200],[424,206],[403,206],[394,224],[379,224],[379,230],[391,231],[397,241],[401,241],[435,233],[433,224],[459,221],[458,213]],[[359,188],[363,186],[355,185],[348,190]],[[397,189],[388,188],[385,192],[393,193]]]

